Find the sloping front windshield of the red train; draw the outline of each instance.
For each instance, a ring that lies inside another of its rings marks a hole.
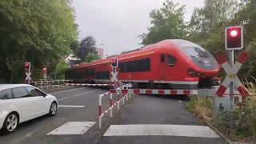
[[[182,39],[173,39],[172,42],[178,46],[187,56],[191,58],[213,58],[210,52],[202,46]]]

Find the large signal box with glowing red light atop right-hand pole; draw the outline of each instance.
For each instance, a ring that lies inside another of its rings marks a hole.
[[[243,27],[227,26],[225,29],[225,49],[242,50],[243,48]]]

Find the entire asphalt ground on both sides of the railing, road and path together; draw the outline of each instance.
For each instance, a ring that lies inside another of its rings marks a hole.
[[[119,112],[114,107],[114,118],[109,113],[102,117],[99,130],[98,94],[106,91],[77,87],[52,92],[60,106],[57,115],[22,123],[13,134],[0,135],[0,143],[226,143],[187,112],[180,100],[162,96],[132,96],[125,105],[121,102]],[[102,98],[102,112],[109,107],[109,99],[109,95]]]

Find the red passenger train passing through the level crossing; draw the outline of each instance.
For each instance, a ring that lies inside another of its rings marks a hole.
[[[119,82],[133,88],[188,90],[218,86],[220,67],[202,46],[182,39],[167,39],[140,49],[111,56],[118,58]],[[84,83],[109,83],[111,57],[71,66],[66,79]]]

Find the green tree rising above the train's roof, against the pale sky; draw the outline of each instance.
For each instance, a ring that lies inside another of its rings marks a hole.
[[[184,22],[185,6],[179,6],[166,0],[160,10],[150,12],[151,26],[147,34],[141,34],[143,45],[160,42],[165,39],[183,38],[186,35],[186,23]]]

